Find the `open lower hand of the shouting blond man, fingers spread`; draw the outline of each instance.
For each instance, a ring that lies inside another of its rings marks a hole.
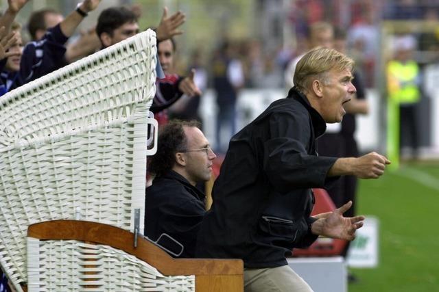
[[[343,217],[351,207],[352,201],[349,201],[332,212],[316,215],[318,220],[311,225],[311,232],[335,239],[355,239],[355,231],[363,226],[364,216]]]

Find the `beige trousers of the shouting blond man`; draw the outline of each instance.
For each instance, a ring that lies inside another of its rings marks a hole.
[[[244,269],[245,292],[313,292],[309,284],[288,265]]]

